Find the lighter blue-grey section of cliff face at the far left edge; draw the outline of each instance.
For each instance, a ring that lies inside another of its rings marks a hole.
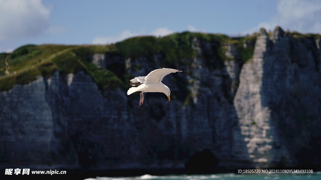
[[[38,79],[0,93],[1,164],[47,165],[54,136],[53,114],[45,97],[45,84]],[[32,163],[28,161],[32,157]]]

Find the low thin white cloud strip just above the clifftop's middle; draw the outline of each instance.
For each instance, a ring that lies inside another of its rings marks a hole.
[[[143,36],[143,35],[150,35],[150,36],[166,36],[173,33],[172,30],[167,28],[158,28],[153,30],[151,33],[145,33],[145,30],[140,30],[139,32],[131,32],[129,30],[124,30],[122,33],[116,35],[116,36],[98,36],[95,37],[91,43],[92,44],[109,44],[109,43],[115,43],[122,40],[125,40],[129,37],[135,37],[135,36]]]

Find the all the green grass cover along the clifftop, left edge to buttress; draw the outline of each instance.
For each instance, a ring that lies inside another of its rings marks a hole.
[[[179,68],[181,65],[188,65],[184,59],[197,56],[193,49],[195,39],[198,39],[201,46],[203,42],[210,44],[212,54],[204,51],[203,56],[206,65],[210,69],[222,68],[226,48],[224,44],[238,43],[240,51],[240,63],[244,63],[253,55],[253,48],[243,48],[242,44],[246,38],[230,38],[221,34],[204,33],[174,33],[166,37],[156,38],[152,36],[134,37],[126,39],[115,45],[24,45],[10,54],[0,54],[0,91],[11,89],[15,84],[28,84],[31,81],[43,76],[50,77],[59,70],[64,75],[84,71],[91,75],[98,84],[100,90],[114,89],[116,87],[127,88],[128,80],[131,78],[126,74],[119,75],[114,69],[102,70],[88,60],[88,56],[95,53],[110,54],[116,53],[122,57],[121,63],[127,58],[145,57],[154,61],[154,54],[162,54],[160,66]],[[8,56],[8,57],[7,57]],[[9,64],[9,75],[5,75],[5,58]]]

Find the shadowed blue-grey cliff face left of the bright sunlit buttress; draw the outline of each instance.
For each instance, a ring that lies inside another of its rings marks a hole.
[[[184,168],[189,157],[204,149],[227,160],[223,165],[235,162],[231,144],[237,115],[222,92],[229,75],[226,70],[209,71],[202,58],[193,61],[198,75],[189,78],[197,76],[200,81],[187,82],[187,88],[198,86],[197,100],[187,105],[156,93],[145,94],[142,106],[139,95],[127,96],[120,89],[101,94],[83,72],[67,76],[55,72],[49,79],[1,92],[5,128],[0,131],[4,135],[0,151],[6,158],[1,159],[2,167]],[[148,72],[149,66],[141,69]],[[134,68],[128,67],[132,72]],[[176,73],[164,83],[175,95],[184,90],[178,81],[185,78]],[[23,155],[26,152],[28,156]]]

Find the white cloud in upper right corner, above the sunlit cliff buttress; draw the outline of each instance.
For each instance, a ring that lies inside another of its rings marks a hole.
[[[245,33],[257,32],[261,27],[273,30],[281,26],[284,30],[302,33],[321,33],[321,4],[317,0],[279,0],[277,14],[268,22],[261,22]]]

